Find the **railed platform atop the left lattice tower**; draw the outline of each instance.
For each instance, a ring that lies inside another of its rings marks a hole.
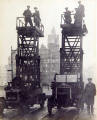
[[[40,26],[37,27],[32,19],[33,26],[25,26],[24,17],[17,17],[16,20],[16,30],[18,35],[26,37],[44,37],[44,26],[40,22]]]

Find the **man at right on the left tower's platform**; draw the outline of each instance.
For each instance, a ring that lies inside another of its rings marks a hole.
[[[33,16],[34,16],[34,22],[35,22],[35,24],[36,24],[37,27],[40,27],[41,19],[40,19],[39,10],[38,10],[37,7],[34,7],[34,10],[35,10],[35,12],[33,14]]]

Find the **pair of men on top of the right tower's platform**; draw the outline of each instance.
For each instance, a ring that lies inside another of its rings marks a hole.
[[[74,14],[74,24],[76,25],[82,25],[84,14],[84,6],[81,4],[81,1],[78,1],[78,8],[75,8],[75,14]],[[71,11],[68,10],[68,7],[65,8],[65,23],[71,24],[72,18],[71,18]]]

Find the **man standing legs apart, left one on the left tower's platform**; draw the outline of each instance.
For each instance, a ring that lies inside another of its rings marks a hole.
[[[33,26],[31,17],[32,17],[32,13],[30,11],[30,6],[27,6],[27,10],[24,11],[23,13],[24,17],[25,17],[25,27],[27,26],[27,24],[29,23],[31,26]]]

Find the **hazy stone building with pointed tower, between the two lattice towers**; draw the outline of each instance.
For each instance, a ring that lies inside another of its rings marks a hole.
[[[40,47],[40,58],[41,81],[50,84],[60,69],[59,36],[54,28],[48,35],[47,48],[44,45]]]

